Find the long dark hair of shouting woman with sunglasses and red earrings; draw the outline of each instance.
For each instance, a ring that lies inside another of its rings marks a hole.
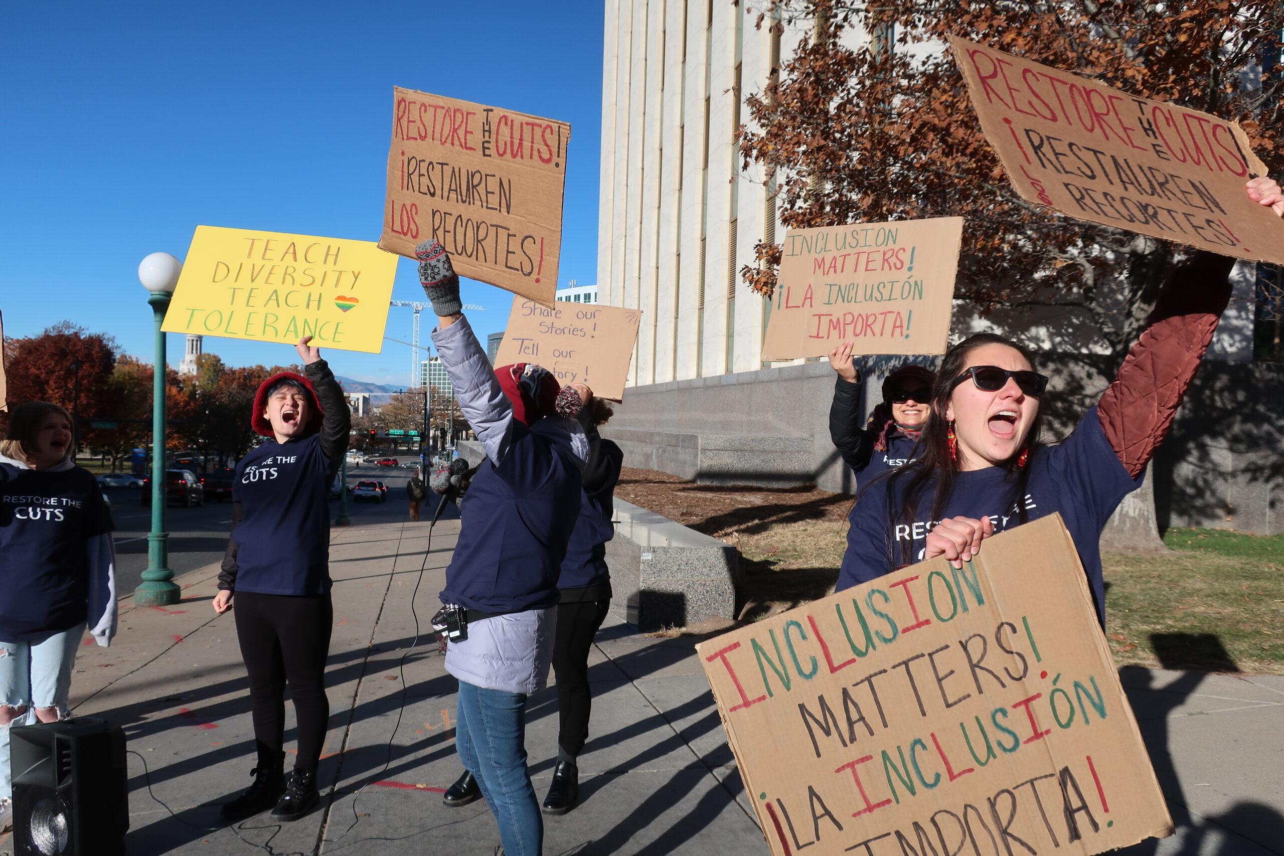
[[[968,355],[977,348],[982,348],[985,345],[1007,345],[1025,357],[1026,361],[1034,366],[1034,361],[1030,358],[1028,350],[1016,341],[993,332],[978,332],[975,336],[968,336],[945,352],[945,357],[941,359],[941,367],[936,372],[936,384],[932,386],[932,409],[923,426],[923,434],[919,436],[918,444],[914,447],[914,461],[892,470],[887,475],[887,520],[890,525],[887,549],[892,566],[896,563],[895,527],[898,524],[914,524],[923,494],[927,492],[932,481],[935,480],[936,483],[935,495],[932,497],[932,516],[931,521],[926,522],[933,522],[941,518],[945,506],[949,503],[950,497],[954,493],[954,481],[959,474],[959,462],[950,457],[950,424],[949,420],[945,418],[945,412],[949,409],[950,395],[954,393],[954,379],[963,373],[963,368],[968,362]],[[1039,445],[1039,432],[1041,426],[1043,407],[1039,408],[1039,413],[1030,425],[1030,434],[1026,436],[1026,448],[1030,449],[1031,456]],[[1017,503],[1017,515],[1021,522],[1026,522],[1026,503],[1023,497],[1026,493],[1026,481],[1028,479],[1030,468],[1022,467],[1018,463],[1018,458],[1019,453],[1012,456],[1012,458],[999,466],[1008,470],[1011,474],[1016,474],[1014,497]],[[899,490],[901,484],[905,485],[904,492]],[[903,497],[899,503],[896,502],[898,494]],[[1004,511],[1007,511],[1007,508],[1004,508]]]

